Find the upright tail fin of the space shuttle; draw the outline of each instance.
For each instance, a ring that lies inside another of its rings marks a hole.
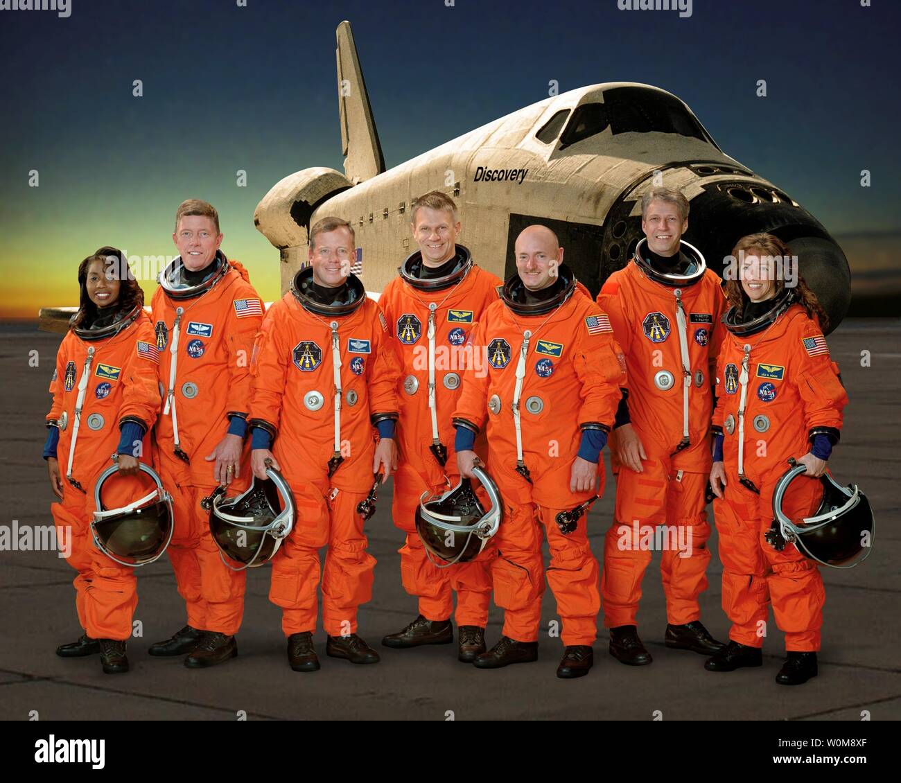
[[[376,122],[372,117],[363,71],[359,68],[350,22],[339,24],[335,37],[344,173],[354,185],[358,185],[385,170],[385,157],[378,142]]]

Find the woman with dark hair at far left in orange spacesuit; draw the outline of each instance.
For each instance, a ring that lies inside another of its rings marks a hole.
[[[103,247],[84,259],[78,286],[80,306],[59,345],[50,381],[53,405],[43,456],[59,498],[50,505],[58,541],[78,572],[76,608],[85,633],[57,654],[71,658],[100,652],[104,671],[113,674],[128,670],[125,641],[132,634],[138,598],[133,569],[114,562],[91,541],[94,489],[114,452],[119,472],[105,483],[107,508],[155,487],[139,464],[159,409],[159,352],[143,311],[144,292],[120,250]]]

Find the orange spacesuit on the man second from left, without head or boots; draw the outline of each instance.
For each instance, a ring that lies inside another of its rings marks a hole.
[[[159,476],[175,515],[169,560],[187,604],[187,624],[232,636],[241,627],[246,576],[223,563],[200,501],[218,484],[215,462],[205,457],[229,432],[230,415],[246,417],[250,410],[250,355],[263,304],[247,270],[235,260],[227,263],[230,269],[199,296],[178,298],[160,286],[150,317],[164,396],[156,434]],[[246,488],[249,477],[245,449],[229,494]]]

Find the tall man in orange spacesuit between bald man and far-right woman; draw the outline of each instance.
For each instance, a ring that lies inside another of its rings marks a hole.
[[[707,587],[710,560],[705,488],[725,299],[700,251],[682,241],[687,229],[685,196],[664,187],[645,194],[644,238],[633,260],[607,278],[597,296],[629,373],[611,437],[616,505],[601,591],[610,653],[631,666],[651,663],[636,616],[651,562],[644,533],[661,524],[688,542],[685,549],[663,551],[660,562],[666,646],[708,657],[723,647],[700,622],[698,596]]]

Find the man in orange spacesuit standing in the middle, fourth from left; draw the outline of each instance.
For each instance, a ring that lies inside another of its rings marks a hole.
[[[491,598],[487,547],[471,562],[439,567],[416,533],[415,512],[424,492],[443,491],[459,480],[451,414],[460,378],[473,360],[470,335],[483,311],[497,300],[501,280],[473,262],[457,243],[460,219],[450,196],[434,190],[417,199],[410,227],[419,245],[378,300],[391,339],[403,360],[395,477],[394,523],[406,533],[400,549],[406,591],[419,598],[419,612],[387,647],[409,648],[453,641],[451,612],[457,593],[458,658],[471,662],[485,651]],[[467,351],[466,349],[469,349]]]

